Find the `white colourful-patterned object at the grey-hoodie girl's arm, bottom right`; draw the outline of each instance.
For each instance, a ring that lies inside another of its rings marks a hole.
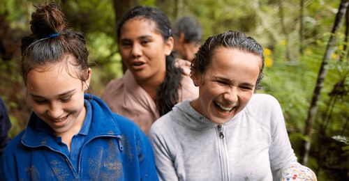
[[[286,168],[282,173],[281,180],[282,181],[294,181],[294,180],[309,180],[309,181],[316,181],[318,180],[316,178],[315,173],[311,171],[310,168],[302,165],[292,165],[289,168]]]

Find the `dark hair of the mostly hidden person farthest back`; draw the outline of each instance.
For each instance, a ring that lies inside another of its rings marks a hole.
[[[180,37],[184,33],[184,42],[194,42],[199,44],[202,38],[202,28],[193,17],[181,17],[174,22],[173,35]]]

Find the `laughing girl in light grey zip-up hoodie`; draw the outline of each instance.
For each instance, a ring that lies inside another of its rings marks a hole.
[[[198,99],[152,125],[160,180],[316,180],[297,162],[279,102],[254,93],[262,47],[239,31],[209,37],[191,64]]]

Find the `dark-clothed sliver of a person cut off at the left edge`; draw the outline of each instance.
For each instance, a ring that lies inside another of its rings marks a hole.
[[[0,97],[0,157],[6,145],[10,141],[10,137],[8,136],[8,131],[10,131],[10,128],[11,122],[10,118],[8,117],[6,105]]]

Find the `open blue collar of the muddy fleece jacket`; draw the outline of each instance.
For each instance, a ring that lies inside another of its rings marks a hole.
[[[119,125],[117,124],[117,120],[114,120],[114,116],[112,116],[113,113],[107,105],[94,95],[85,94],[84,99],[90,102],[92,108],[91,127],[85,141],[100,136],[119,136],[121,134]],[[40,122],[43,122],[43,120],[40,120],[34,112],[31,113],[28,126],[22,136],[22,143],[29,147],[46,145],[50,148],[55,148],[56,146],[54,145],[57,145],[55,139],[57,139],[57,137],[54,136],[53,130],[48,125],[47,130],[52,131],[52,134],[47,134],[46,132],[35,129],[36,124]],[[58,145],[56,149],[59,150]]]

